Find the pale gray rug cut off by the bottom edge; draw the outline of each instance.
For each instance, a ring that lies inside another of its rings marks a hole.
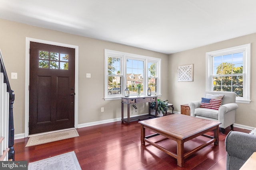
[[[30,162],[28,170],[82,170],[74,151]]]

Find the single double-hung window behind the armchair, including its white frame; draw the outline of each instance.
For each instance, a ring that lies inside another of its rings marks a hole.
[[[250,44],[206,53],[206,91],[236,92],[236,102],[250,102]]]

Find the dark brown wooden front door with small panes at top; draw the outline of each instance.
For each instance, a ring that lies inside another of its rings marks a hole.
[[[75,49],[30,42],[29,135],[74,127]]]

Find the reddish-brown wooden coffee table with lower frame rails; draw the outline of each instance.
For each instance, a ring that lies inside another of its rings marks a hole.
[[[174,114],[164,117],[158,117],[154,119],[139,121],[141,124],[141,144],[145,145],[145,141],[154,147],[166,152],[170,156],[177,159],[177,164],[180,167],[184,166],[184,160],[197,152],[198,150],[214,143],[219,144],[219,125],[218,121],[210,121],[206,119],[200,119],[197,117],[191,117],[188,115]],[[156,134],[145,136],[145,129],[156,132]],[[204,133],[209,131],[214,131],[214,137],[210,135],[205,135]],[[156,142],[149,140],[150,137],[155,137],[157,135],[163,135],[169,139],[177,142],[177,154],[170,152]],[[184,142],[194,139],[198,136],[204,136],[210,138],[210,141],[203,143],[202,145],[196,147],[195,149],[184,153]]]

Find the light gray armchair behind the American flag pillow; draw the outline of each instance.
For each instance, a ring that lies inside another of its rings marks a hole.
[[[224,97],[222,98],[222,104],[219,109],[216,110],[200,107],[201,100],[196,102],[190,102],[188,103],[188,106],[190,107],[190,116],[221,122],[219,127],[221,128],[222,133],[225,133],[225,129],[228,126],[231,126],[231,129],[233,129],[233,124],[235,123],[236,109],[238,108],[238,105],[236,104],[236,93],[208,91],[205,92],[204,96],[202,97],[205,98],[206,94],[224,95]]]

